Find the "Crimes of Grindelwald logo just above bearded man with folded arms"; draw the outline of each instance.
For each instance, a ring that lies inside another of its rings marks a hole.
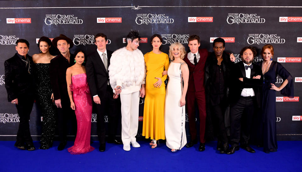
[[[247,39],[248,44],[284,44],[285,39],[282,39],[277,34],[249,34]]]

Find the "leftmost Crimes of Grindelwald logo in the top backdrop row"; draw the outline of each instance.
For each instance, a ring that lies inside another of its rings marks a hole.
[[[65,15],[65,14],[46,14],[44,22],[47,25],[83,24],[82,19],[78,19],[78,17],[75,17],[74,15]]]

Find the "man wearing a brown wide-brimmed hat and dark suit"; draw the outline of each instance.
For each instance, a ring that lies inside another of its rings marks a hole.
[[[65,35],[53,39],[53,46],[57,47],[60,54],[50,60],[50,82],[53,89],[54,102],[58,112],[58,131],[61,143],[58,150],[63,150],[67,142],[67,119],[76,120],[74,112],[70,108],[70,99],[67,91],[66,70],[74,64],[73,55],[69,49],[73,47],[71,39]]]

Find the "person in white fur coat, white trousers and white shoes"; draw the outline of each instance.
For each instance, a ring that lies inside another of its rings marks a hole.
[[[137,49],[140,36],[131,30],[126,37],[127,46],[112,53],[109,82],[115,94],[120,94],[122,114],[123,149],[130,150],[130,144],[138,148],[135,136],[138,129],[139,97],[145,96],[146,67],[143,53]]]

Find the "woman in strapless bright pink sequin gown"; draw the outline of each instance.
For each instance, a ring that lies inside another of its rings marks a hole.
[[[90,146],[92,98],[90,95],[86,69],[82,65],[85,61],[84,52],[75,52],[75,63],[66,70],[66,82],[70,107],[75,110],[77,132],[75,144],[68,148],[70,154],[86,154],[94,150]]]

